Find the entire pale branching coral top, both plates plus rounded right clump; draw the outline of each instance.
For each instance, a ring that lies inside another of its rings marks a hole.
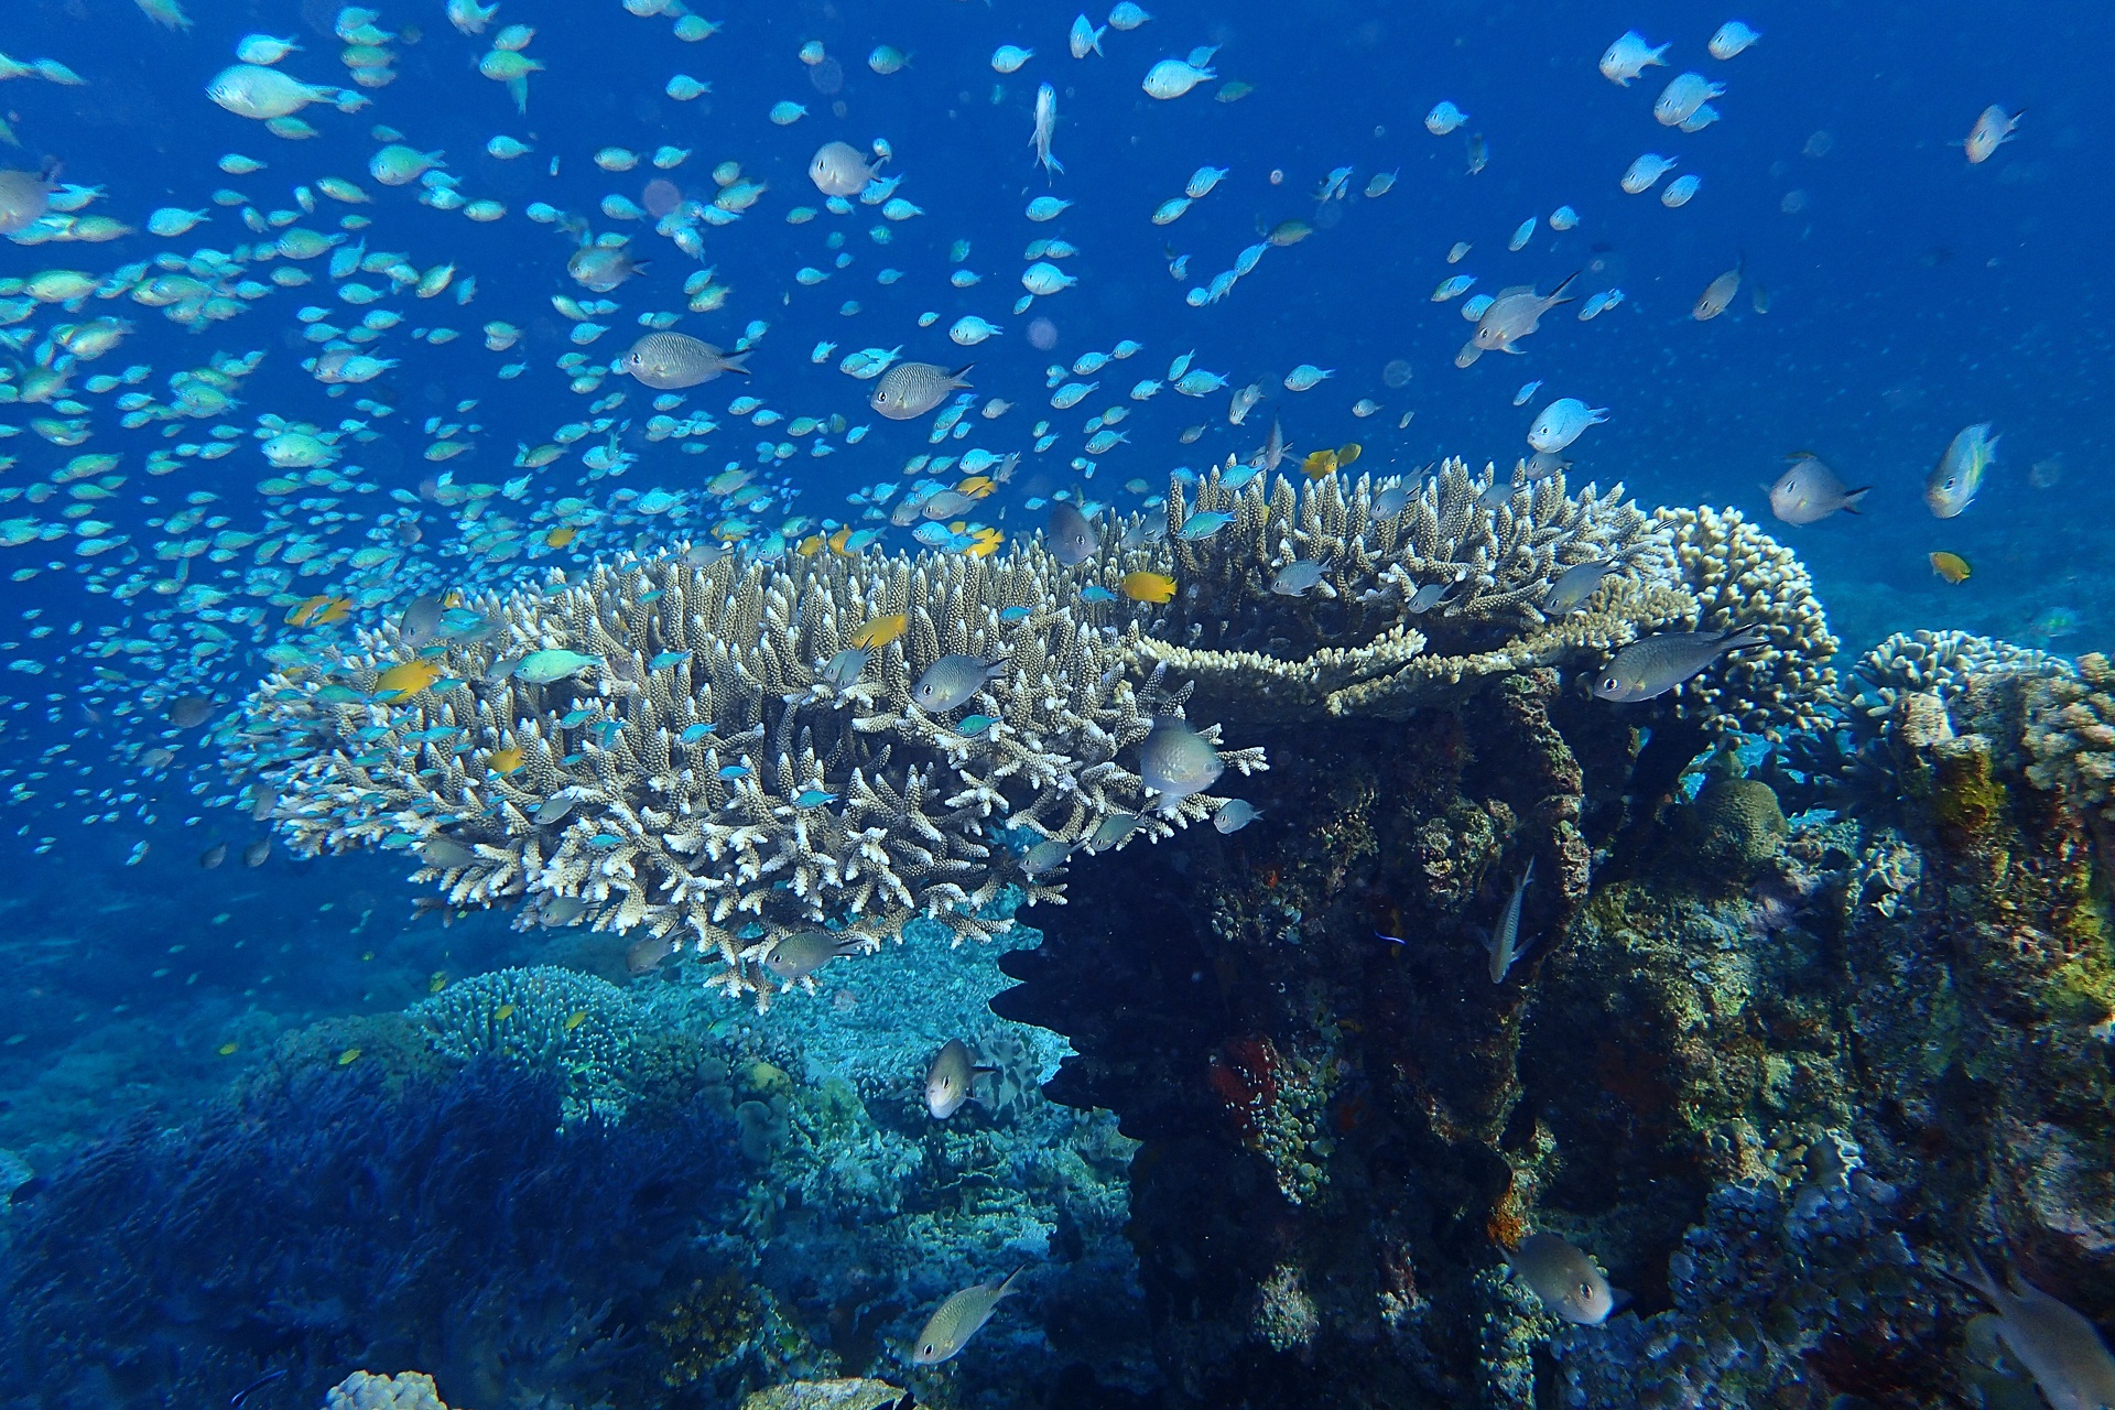
[[[988,939],[1007,886],[1062,901],[1074,852],[1208,818],[1225,797],[1155,793],[1138,753],[1193,689],[1227,721],[1400,717],[1654,630],[1760,624],[1684,712],[1770,731],[1834,691],[1804,569],[1730,509],[1650,516],[1563,476],[1493,490],[1461,461],[1419,486],[1212,474],[1193,497],[1212,518],[1176,484],[1167,533],[1104,522],[1077,564],[1043,543],[615,558],[279,672],[233,763],[300,850],[406,850],[450,905],[687,941],[761,1004],[916,915]],[[1322,564],[1301,592],[1277,577],[1294,562]],[[1580,564],[1605,579],[1557,602]],[[1134,600],[1161,596],[1138,573],[1174,596]]]

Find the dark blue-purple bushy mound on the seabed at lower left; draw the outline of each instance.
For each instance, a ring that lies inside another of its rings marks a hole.
[[[453,1404],[630,1399],[734,1137],[702,1103],[567,1127],[560,1097],[512,1063],[366,1063],[127,1123],[15,1196],[8,1404],[212,1404],[283,1370],[250,1404],[311,1406],[355,1368]]]

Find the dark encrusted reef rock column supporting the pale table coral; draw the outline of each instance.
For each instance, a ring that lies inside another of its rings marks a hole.
[[[1946,1277],[1992,1237],[2115,1309],[2104,882],[2005,689],[1861,750],[1893,827],[1787,824],[1730,755],[1681,801],[1700,731],[1535,672],[1265,736],[1261,822],[1079,869],[994,1008],[1146,1144],[1170,1399],[1969,1404],[2018,1389]],[[1504,1277],[1531,1228],[1635,1304],[1559,1334]]]

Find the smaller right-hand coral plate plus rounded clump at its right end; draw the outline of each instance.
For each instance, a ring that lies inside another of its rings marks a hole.
[[[1599,664],[1656,630],[1760,626],[1766,641],[1684,683],[1677,710],[1713,734],[1821,719],[1836,638],[1791,550],[1736,509],[1648,516],[1620,484],[1567,495],[1561,474],[1493,497],[1493,474],[1449,461],[1415,495],[1366,478],[1227,488],[1212,474],[1195,505],[1176,484],[1178,590],[1132,649],[1195,681],[1218,719],[1296,721],[1404,717],[1493,676]],[[1182,539],[1195,512],[1231,522]],[[1320,581],[1273,592],[1292,562],[1322,564]],[[1582,564],[1610,573],[1576,611],[1555,611],[1557,581]]]

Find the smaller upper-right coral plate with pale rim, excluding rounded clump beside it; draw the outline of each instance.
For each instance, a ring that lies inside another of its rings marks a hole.
[[[1650,581],[1667,560],[1662,537],[1622,486],[1567,497],[1552,476],[1495,507],[1481,501],[1487,486],[1461,461],[1417,493],[1335,476],[1227,488],[1214,471],[1191,503],[1178,482],[1167,493],[1178,590],[1134,649],[1193,679],[1227,719],[1402,715],[1493,674],[1622,645],[1688,609]],[[1381,516],[1392,507],[1381,495],[1400,507]],[[1231,522],[1189,541],[1197,512]],[[1294,560],[1324,564],[1320,581],[1303,596],[1273,592]],[[1588,611],[1544,617],[1557,577],[1584,562],[1620,573]]]

